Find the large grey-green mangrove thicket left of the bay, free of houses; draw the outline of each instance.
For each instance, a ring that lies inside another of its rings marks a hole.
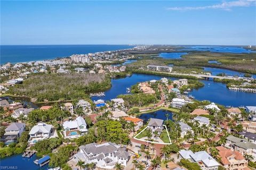
[[[27,96],[33,101],[71,100],[89,97],[87,94],[111,87],[104,74],[32,74],[23,84],[10,88],[10,94]]]

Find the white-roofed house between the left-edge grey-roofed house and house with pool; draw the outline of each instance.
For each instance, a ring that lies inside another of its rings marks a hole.
[[[52,131],[52,125],[43,122],[38,123],[29,132],[29,145],[34,145],[38,141],[50,138]]]

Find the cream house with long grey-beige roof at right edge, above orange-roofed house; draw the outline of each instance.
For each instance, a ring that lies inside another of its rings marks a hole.
[[[256,144],[249,142],[247,139],[234,137],[233,135],[229,135],[226,139],[225,147],[232,151],[238,151],[243,155],[251,155],[253,161],[256,160]]]

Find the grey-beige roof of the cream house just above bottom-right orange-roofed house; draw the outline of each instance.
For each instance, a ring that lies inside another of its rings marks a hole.
[[[237,137],[234,137],[233,135],[229,135],[226,139],[231,141],[231,143],[233,145],[235,145],[239,148],[256,149],[256,144],[251,143],[251,142],[247,141],[246,139],[237,138]]]

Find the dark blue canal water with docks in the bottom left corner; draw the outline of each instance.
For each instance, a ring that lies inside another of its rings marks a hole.
[[[34,163],[34,160],[38,159],[36,155],[26,158],[22,157],[22,154],[19,155],[13,155],[6,158],[1,158],[1,169],[4,166],[8,166],[8,169],[18,169],[18,170],[28,170],[28,169],[34,169],[34,170],[46,170],[49,169],[49,166],[46,164],[43,167],[37,166]],[[10,168],[10,166],[14,166],[14,168]],[[17,168],[16,168],[17,167]],[[7,169],[7,168],[6,168]]]

